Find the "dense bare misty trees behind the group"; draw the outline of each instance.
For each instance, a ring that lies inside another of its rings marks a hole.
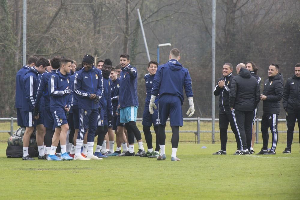
[[[22,0],[0,0],[0,117],[16,116],[15,74],[22,67]],[[181,63],[193,80],[195,117],[211,117],[211,1],[206,0],[30,0],[27,1],[27,55],[63,55],[81,62],[127,52],[137,67],[142,116],[148,63],[140,24],[140,9],[150,56],[157,59],[159,43],[181,50]],[[216,79],[223,63],[254,61],[267,78],[278,63],[286,80],[300,62],[300,16],[297,0],[217,0]],[[161,48],[160,62],[170,47]],[[235,73],[235,70],[234,70]],[[213,80],[214,82],[216,80]],[[216,114],[218,113],[216,97]],[[184,102],[185,113],[188,102]],[[260,106],[260,112],[261,112]],[[185,116],[185,114],[184,114]],[[217,116],[217,115],[216,115]],[[284,112],[281,112],[283,118]]]

